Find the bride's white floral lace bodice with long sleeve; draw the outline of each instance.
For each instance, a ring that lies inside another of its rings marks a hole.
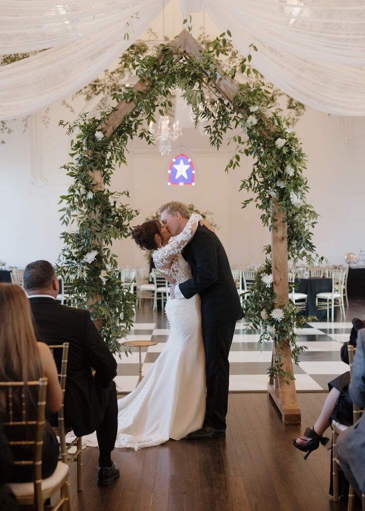
[[[180,284],[191,277],[190,266],[180,252],[191,241],[202,218],[201,215],[191,215],[180,234],[172,238],[167,245],[153,252],[156,268],[166,276],[169,282]]]

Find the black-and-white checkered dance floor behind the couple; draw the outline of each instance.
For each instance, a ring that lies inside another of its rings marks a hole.
[[[138,317],[137,317],[138,320]],[[142,376],[160,355],[168,337],[168,323],[162,314],[156,323],[138,323],[127,340],[153,340],[157,344],[144,347],[142,351]],[[351,322],[314,322],[298,331],[298,342],[308,347],[301,355],[299,366],[294,366],[296,389],[298,391],[328,391],[327,382],[349,370],[340,359],[340,347],[349,340]],[[246,330],[237,322],[229,355],[230,391],[265,392],[267,389],[267,368],[271,365],[272,343],[258,344],[259,334]],[[132,354],[116,355],[118,363],[115,382],[119,392],[130,392],[138,383],[138,348]]]

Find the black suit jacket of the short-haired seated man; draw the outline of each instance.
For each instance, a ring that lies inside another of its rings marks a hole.
[[[30,298],[36,335],[46,344],[69,343],[65,423],[77,436],[99,427],[109,400],[108,386],[116,376],[116,361],[88,311],[59,304],[53,298]],[[60,358],[56,364],[60,369]],[[92,376],[91,368],[95,370]]]

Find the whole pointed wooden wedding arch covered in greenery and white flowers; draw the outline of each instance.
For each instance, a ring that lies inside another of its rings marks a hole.
[[[284,422],[298,423],[291,358],[298,362],[304,350],[297,345],[294,330],[305,319],[298,318],[295,306],[288,303],[287,263],[288,259],[300,259],[311,264],[318,257],[311,242],[317,214],[305,199],[305,154],[288,121],[270,104],[269,90],[263,82],[234,81],[237,72],[251,72],[247,66],[251,54],[229,74],[216,64],[214,57],[219,54],[218,47],[226,45],[227,36],[231,36],[229,31],[216,38],[215,48],[205,51],[183,30],[173,41],[161,44],[157,55],[136,56],[132,67],[139,81],[125,91],[116,91],[116,106],[102,111],[101,118],[88,119],[83,114],[74,123],[60,122],[75,135],[71,161],[63,166],[74,182],[61,197],[66,203],[60,210],[61,220],[65,225],[76,221],[77,230],[61,235],[65,245],[58,271],[66,279],[72,275],[74,298],[85,307],[87,297],[92,317],[99,321],[109,349],[116,352],[118,339],[132,323],[133,296],[124,292],[118,280],[111,246],[113,240],[129,235],[130,222],[138,211],[120,202],[123,196],[128,198],[128,192],[111,192],[108,186],[115,165],[127,161],[129,140],[138,136],[153,143],[146,126],[155,122],[156,110],[163,115],[172,106],[169,91],[178,86],[196,122],[200,117],[206,120],[211,146],[219,149],[223,134],[231,127],[241,129],[241,135],[232,138],[235,148],[226,172],[239,166],[241,155],[254,158],[253,170],[240,189],[253,192],[255,199],[245,200],[242,207],[255,201],[262,223],[271,230],[272,242],[264,247],[265,265],[257,273],[250,300],[246,300],[245,317],[261,329],[260,342],[268,337],[274,341],[269,392]],[[251,51],[257,49],[251,45]],[[206,88],[213,99],[206,98]]]

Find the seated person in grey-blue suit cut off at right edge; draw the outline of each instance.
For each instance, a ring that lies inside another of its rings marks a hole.
[[[350,396],[355,406],[365,406],[365,329],[357,336],[356,353],[352,366]],[[356,494],[365,494],[365,414],[338,435],[336,452],[346,479]]]

